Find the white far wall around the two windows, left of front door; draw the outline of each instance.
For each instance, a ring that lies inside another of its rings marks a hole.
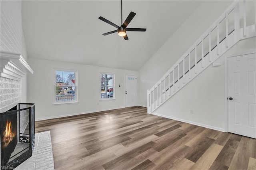
[[[124,75],[138,75],[138,71],[33,58],[28,58],[28,64],[34,70],[33,75],[28,75],[28,102],[35,103],[36,120],[123,108]],[[54,68],[78,70],[79,103],[52,105],[55,93]],[[100,72],[115,73],[116,99],[100,101]],[[118,87],[119,84],[121,87]]]

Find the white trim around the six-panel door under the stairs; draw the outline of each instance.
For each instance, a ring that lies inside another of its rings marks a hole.
[[[224,122],[225,122],[225,132],[228,132],[228,58],[236,57],[240,55],[248,55],[256,53],[256,50],[246,51],[243,53],[238,53],[235,55],[226,56],[224,55]]]

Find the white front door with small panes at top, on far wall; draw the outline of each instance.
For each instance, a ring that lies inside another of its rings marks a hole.
[[[137,106],[137,76],[125,75],[125,107]]]

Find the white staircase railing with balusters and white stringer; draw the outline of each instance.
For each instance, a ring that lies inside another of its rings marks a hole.
[[[234,1],[148,90],[148,113],[153,113],[238,41],[256,36],[256,21],[253,25],[246,26],[246,10],[245,0]],[[243,23],[242,28],[240,22]]]

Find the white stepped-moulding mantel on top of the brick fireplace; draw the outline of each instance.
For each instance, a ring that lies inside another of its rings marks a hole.
[[[6,77],[20,81],[33,70],[19,53],[0,51],[0,77]]]

